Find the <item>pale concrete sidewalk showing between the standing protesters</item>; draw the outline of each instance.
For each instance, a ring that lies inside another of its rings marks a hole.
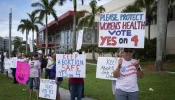
[[[8,74],[8,75],[9,75],[10,78],[13,78],[12,74]],[[59,91],[60,91],[61,100],[70,100],[70,92],[69,92],[69,90],[60,87]],[[84,98],[82,98],[82,100],[95,100],[95,99],[85,96]]]

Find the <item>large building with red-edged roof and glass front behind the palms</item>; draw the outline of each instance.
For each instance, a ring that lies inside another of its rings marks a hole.
[[[104,4],[106,9],[105,13],[120,13],[126,6],[134,3],[135,0],[112,0]],[[91,11],[89,5],[78,5],[77,10],[88,10]],[[86,14],[85,14],[86,15]],[[167,31],[167,54],[175,53],[175,46],[173,45],[173,40],[175,40],[175,10],[172,14],[172,19],[168,23]],[[95,34],[96,43],[98,43],[98,22],[99,16],[95,18],[96,31],[93,33],[92,29],[84,28],[83,35],[83,44],[91,44],[92,35]],[[58,25],[55,21],[52,21],[48,24],[48,47],[50,51],[55,50],[56,52],[67,52],[72,48],[72,32],[73,32],[73,11],[68,11],[65,14],[61,15],[58,18]],[[157,36],[157,25],[156,22],[153,22],[151,25],[150,37],[155,38]],[[77,32],[78,36],[78,32]],[[145,36],[148,36],[148,27],[145,28]],[[45,27],[41,28],[37,34],[37,48],[45,50]]]

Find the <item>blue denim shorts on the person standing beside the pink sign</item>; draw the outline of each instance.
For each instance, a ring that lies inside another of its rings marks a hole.
[[[33,81],[36,86],[36,90],[39,90],[39,83],[38,83],[39,77],[29,77],[29,85],[30,89],[33,90]]]

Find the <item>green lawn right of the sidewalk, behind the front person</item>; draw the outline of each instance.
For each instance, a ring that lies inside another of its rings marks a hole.
[[[87,65],[85,78],[85,95],[97,100],[114,100],[110,80],[97,79],[96,66]],[[174,69],[174,68],[173,68]],[[152,71],[146,69],[144,72]],[[138,80],[140,100],[174,100],[175,74],[145,74]],[[68,88],[68,80],[64,79],[61,87]],[[154,91],[149,91],[152,88]]]

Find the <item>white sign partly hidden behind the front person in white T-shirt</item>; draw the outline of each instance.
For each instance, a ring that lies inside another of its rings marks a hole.
[[[113,71],[117,68],[118,59],[115,57],[98,57],[96,78],[117,80]]]

